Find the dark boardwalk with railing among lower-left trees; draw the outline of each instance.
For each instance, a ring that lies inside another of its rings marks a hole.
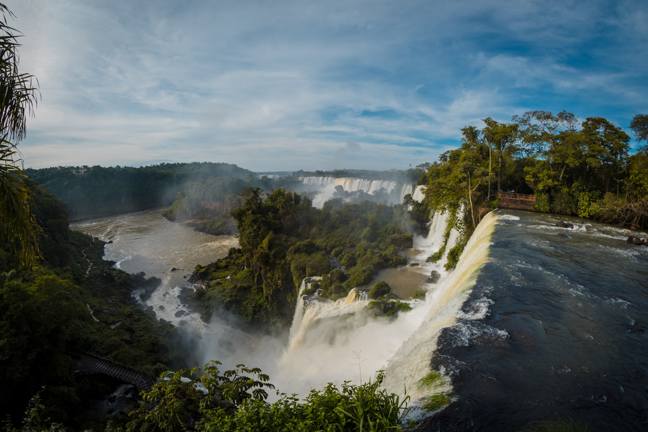
[[[130,383],[141,392],[150,392],[156,381],[144,370],[122,365],[89,352],[71,351],[72,369],[77,375],[104,374]]]

